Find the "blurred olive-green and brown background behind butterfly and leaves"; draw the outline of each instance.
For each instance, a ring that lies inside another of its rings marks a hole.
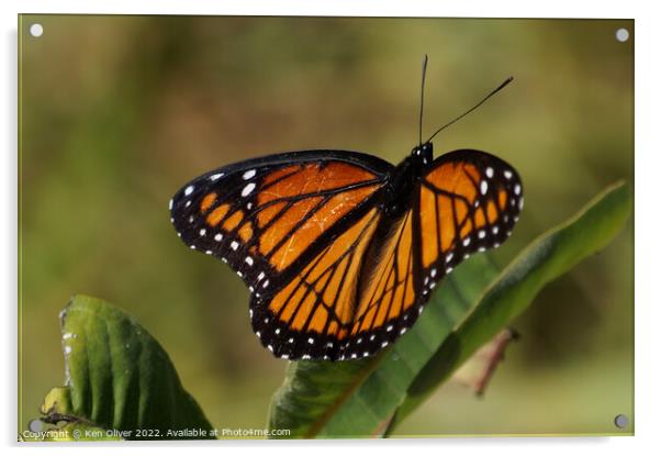
[[[518,169],[526,207],[501,264],[606,185],[634,179],[632,21],[20,23],[20,429],[63,382],[57,315],[74,293],[135,315],[217,427],[264,427],[285,363],[253,334],[240,279],[177,238],[168,200],[214,167],[276,152],[397,163],[417,141],[425,53],[427,135],[515,77],[435,140],[437,154],[479,148]],[[632,241],[630,222],[539,294],[483,399],[450,382],[397,434],[618,432],[614,416],[634,412]]]

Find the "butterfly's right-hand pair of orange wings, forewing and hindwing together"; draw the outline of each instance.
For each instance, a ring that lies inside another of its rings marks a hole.
[[[523,188],[505,162],[464,149],[435,160],[412,199],[365,279],[345,358],[394,342],[442,277],[471,254],[502,244],[523,209]]]

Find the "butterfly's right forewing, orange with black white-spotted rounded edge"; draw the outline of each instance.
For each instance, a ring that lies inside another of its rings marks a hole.
[[[471,149],[436,159],[418,191],[423,297],[473,253],[500,246],[524,201],[514,168]]]

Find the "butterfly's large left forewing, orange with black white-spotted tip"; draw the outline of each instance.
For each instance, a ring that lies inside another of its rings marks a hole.
[[[172,223],[187,245],[228,263],[261,297],[367,212],[391,167],[335,151],[243,162],[181,188]]]

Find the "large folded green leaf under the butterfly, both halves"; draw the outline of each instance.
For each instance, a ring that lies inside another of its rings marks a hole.
[[[412,330],[377,358],[291,363],[273,396],[269,426],[290,429],[292,437],[381,435],[400,405],[404,404],[395,423],[525,310],[545,283],[605,246],[629,211],[626,185],[607,189],[575,218],[533,243],[483,300],[498,270],[488,255],[477,255],[444,281]],[[471,313],[478,301],[480,310]],[[461,321],[464,330],[452,333]],[[459,340],[463,343],[460,351],[456,348],[458,334],[467,338]],[[446,374],[433,377],[444,366]]]

